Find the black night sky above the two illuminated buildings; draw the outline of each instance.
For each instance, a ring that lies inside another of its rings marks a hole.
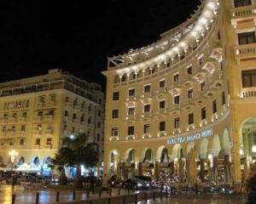
[[[104,88],[107,57],[159,39],[199,0],[5,1],[0,82],[61,68]]]

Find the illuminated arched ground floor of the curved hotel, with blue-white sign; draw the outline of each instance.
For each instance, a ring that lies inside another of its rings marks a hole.
[[[113,175],[123,180],[147,175],[163,182],[245,182],[256,161],[256,111],[251,105],[236,114],[230,109],[216,122],[186,133],[107,141],[103,184]]]

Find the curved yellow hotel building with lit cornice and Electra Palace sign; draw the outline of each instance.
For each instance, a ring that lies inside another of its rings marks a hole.
[[[255,0],[205,0],[159,41],[108,58],[104,184],[134,174],[247,178],[256,159],[255,10]]]

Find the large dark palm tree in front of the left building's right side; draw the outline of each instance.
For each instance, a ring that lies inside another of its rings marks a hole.
[[[87,135],[79,133],[72,138],[65,138],[67,147],[61,147],[59,156],[68,166],[76,167],[74,179],[75,187],[82,188],[83,180],[81,177],[81,165],[84,167],[95,167],[98,159],[97,144],[87,143]],[[56,159],[56,158],[55,158]]]

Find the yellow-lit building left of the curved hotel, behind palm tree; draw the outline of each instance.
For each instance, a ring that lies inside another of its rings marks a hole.
[[[9,150],[16,150],[14,166],[42,170],[63,139],[77,133],[99,144],[102,162],[104,105],[100,85],[58,69],[0,83],[0,162],[9,167]]]

